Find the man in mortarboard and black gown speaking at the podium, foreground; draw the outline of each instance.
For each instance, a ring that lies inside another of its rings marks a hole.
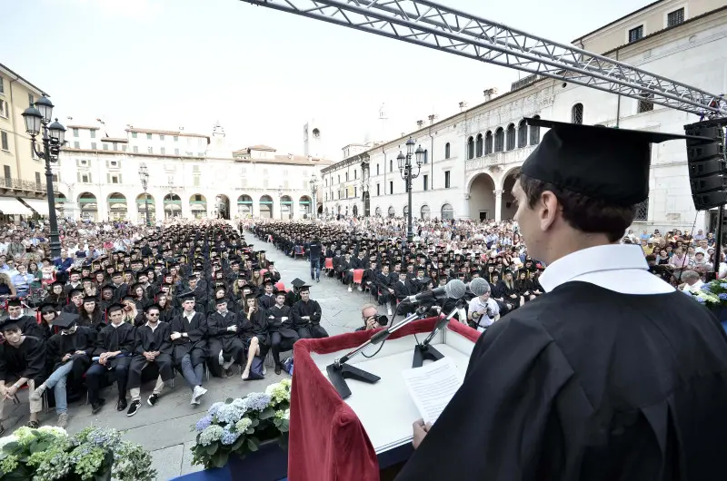
[[[529,122],[551,130],[515,182],[515,220],[545,293],[478,339],[397,481],[723,477],[725,333],[618,244],[648,197],[649,143],[683,137]]]

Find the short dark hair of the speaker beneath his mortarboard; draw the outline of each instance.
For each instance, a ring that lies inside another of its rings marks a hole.
[[[552,191],[563,207],[563,219],[573,229],[587,233],[604,233],[611,242],[622,239],[636,217],[636,205],[624,207],[607,201],[592,199],[580,193],[562,189],[549,182],[538,181],[523,175],[518,176],[520,187],[525,192],[528,205],[533,209],[544,191]]]

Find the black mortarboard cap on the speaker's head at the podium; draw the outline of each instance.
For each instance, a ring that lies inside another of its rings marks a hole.
[[[691,139],[672,133],[525,119],[550,129],[523,162],[527,177],[591,199],[631,206],[649,197],[650,144]],[[701,138],[698,138],[701,139]]]

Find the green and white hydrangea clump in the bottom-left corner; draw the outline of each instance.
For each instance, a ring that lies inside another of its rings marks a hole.
[[[115,429],[19,427],[0,439],[0,478],[34,481],[153,481],[152,457]]]

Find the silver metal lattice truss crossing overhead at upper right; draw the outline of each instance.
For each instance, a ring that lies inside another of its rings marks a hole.
[[[551,42],[427,0],[241,0],[522,70],[700,117],[727,116],[722,95]]]

